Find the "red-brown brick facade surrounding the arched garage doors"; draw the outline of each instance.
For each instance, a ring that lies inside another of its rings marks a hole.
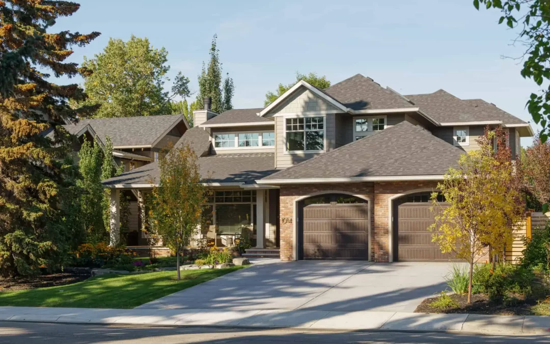
[[[344,192],[367,198],[370,206],[371,260],[389,261],[388,200],[397,194],[417,189],[434,189],[437,182],[377,182],[338,184],[281,185],[279,196],[279,226],[281,260],[294,260],[295,201],[322,192]]]

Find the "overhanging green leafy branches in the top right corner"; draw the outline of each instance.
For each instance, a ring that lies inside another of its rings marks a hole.
[[[521,76],[535,81],[542,89],[532,93],[527,109],[535,123],[542,126],[539,137],[545,143],[550,134],[550,6],[547,0],[474,0],[476,9],[484,4],[487,9],[502,12],[498,24],[505,23],[518,29],[518,39],[525,46]]]

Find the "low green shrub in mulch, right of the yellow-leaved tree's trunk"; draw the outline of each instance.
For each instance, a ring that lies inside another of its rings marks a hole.
[[[520,265],[509,263],[478,264],[474,267],[472,292],[485,293],[489,298],[502,299],[509,293],[530,296],[535,284],[535,274]]]

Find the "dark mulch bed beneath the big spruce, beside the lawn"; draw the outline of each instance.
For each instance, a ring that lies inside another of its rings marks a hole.
[[[13,279],[0,279],[0,291],[15,291],[36,289],[73,284],[86,280],[88,275],[76,274],[51,274],[36,277],[15,277]]]

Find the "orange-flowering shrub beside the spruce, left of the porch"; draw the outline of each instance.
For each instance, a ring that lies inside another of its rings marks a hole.
[[[73,266],[101,267],[131,264],[136,254],[106,243],[82,244],[73,252]]]

